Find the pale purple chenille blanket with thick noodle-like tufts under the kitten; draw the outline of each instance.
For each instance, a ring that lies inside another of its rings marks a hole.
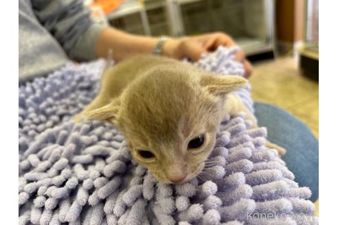
[[[235,51],[219,47],[195,64],[241,75]],[[157,182],[110,124],[74,123],[103,66],[67,64],[19,87],[19,224],[318,224],[311,191],[242,113],[223,119],[203,175],[182,185]],[[237,94],[252,109],[249,87]]]

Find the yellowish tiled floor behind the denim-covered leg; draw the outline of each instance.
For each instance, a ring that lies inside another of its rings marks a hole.
[[[291,112],[319,138],[319,85],[300,75],[295,58],[258,62],[254,64],[254,73],[249,80],[255,101],[267,102]],[[319,215],[319,200],[315,204],[316,215]]]

